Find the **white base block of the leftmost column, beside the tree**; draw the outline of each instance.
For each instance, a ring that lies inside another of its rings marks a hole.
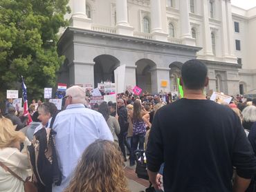
[[[74,28],[91,30],[91,19],[87,18],[86,15],[73,15],[70,21]]]

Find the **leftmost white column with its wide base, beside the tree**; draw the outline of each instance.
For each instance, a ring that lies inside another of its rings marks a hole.
[[[91,19],[86,16],[86,0],[73,0],[71,26],[91,30]]]

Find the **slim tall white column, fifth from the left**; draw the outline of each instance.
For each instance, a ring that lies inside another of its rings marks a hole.
[[[209,4],[208,0],[203,0],[203,39],[204,39],[204,55],[205,59],[212,60],[212,37],[209,24]]]

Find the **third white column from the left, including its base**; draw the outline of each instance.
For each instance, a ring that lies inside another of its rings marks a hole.
[[[167,34],[163,32],[161,21],[161,0],[151,0],[151,26],[153,39],[167,41]]]

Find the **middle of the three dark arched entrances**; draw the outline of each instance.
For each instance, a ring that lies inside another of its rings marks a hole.
[[[136,62],[136,84],[144,91],[152,93],[152,69],[156,68],[154,61],[150,59],[140,59]]]

